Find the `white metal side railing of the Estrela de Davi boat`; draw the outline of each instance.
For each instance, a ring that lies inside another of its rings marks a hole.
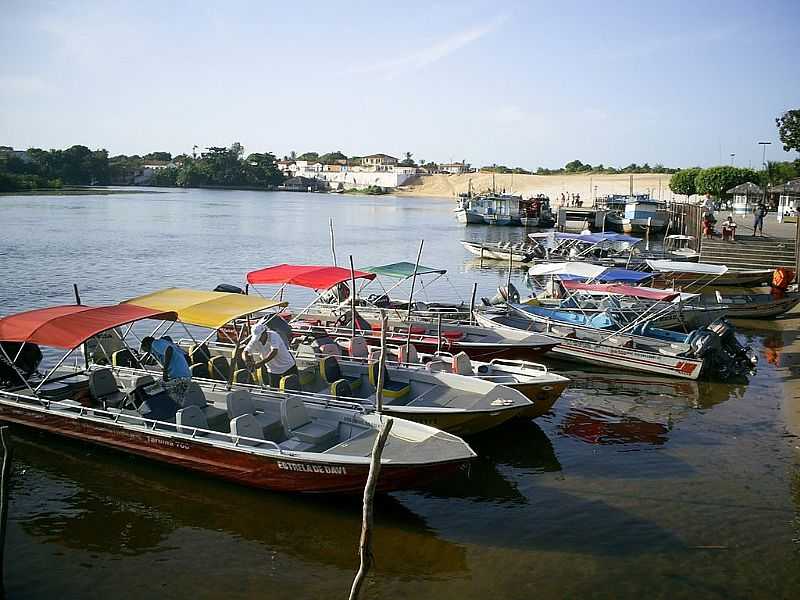
[[[234,435],[224,431],[215,431],[213,429],[205,429],[203,427],[195,427],[193,425],[178,425],[172,421],[159,421],[157,419],[148,419],[141,415],[134,415],[131,413],[111,412],[103,408],[96,408],[91,406],[83,406],[75,400],[50,400],[43,397],[28,396],[25,394],[17,394],[6,390],[0,390],[0,402],[13,402],[16,405],[25,405],[28,409],[40,410],[45,409],[52,412],[67,413],[71,416],[80,417],[82,419],[93,421],[96,423],[107,424],[109,421],[115,425],[127,429],[127,426],[140,427],[146,431],[153,431],[159,434],[168,434],[169,437],[180,437],[189,439],[202,439],[203,442],[218,445],[220,442],[223,444],[231,444],[236,448],[242,448],[242,442],[250,444],[266,445],[272,450],[276,450],[279,454],[284,454],[281,447],[270,440],[251,438],[244,435]],[[40,406],[37,406],[38,403]],[[55,408],[54,408],[55,407]],[[140,427],[137,427],[139,429]],[[191,435],[186,431],[191,430]],[[208,437],[204,437],[208,436]],[[220,440],[219,438],[228,438],[227,440]],[[258,450],[259,448],[251,446],[249,450]]]

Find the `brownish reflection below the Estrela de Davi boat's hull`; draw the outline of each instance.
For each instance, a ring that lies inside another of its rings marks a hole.
[[[360,498],[332,502],[239,488],[19,429],[14,444],[25,472],[13,484],[14,519],[37,542],[76,556],[167,552],[187,543],[177,536],[194,532],[209,544],[223,545],[222,534],[317,567],[350,573],[358,566]],[[47,496],[36,492],[42,488]],[[378,495],[375,510],[375,555],[392,557],[381,561],[383,574],[426,579],[468,571],[463,547],[437,537],[393,497]]]

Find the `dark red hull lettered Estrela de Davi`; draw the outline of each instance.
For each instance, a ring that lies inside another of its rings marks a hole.
[[[170,438],[155,431],[122,428],[61,416],[23,405],[0,403],[0,420],[57,434],[168,465],[224,479],[240,485],[278,492],[354,494],[364,489],[369,465],[300,459],[297,456],[264,456],[231,451],[201,441]],[[383,464],[380,491],[416,488],[454,473],[464,461],[432,465]]]

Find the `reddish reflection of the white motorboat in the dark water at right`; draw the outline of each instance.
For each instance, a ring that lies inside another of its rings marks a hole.
[[[693,410],[741,397],[746,388],[638,373],[559,373],[572,380],[564,395],[570,408],[559,432],[590,444],[664,444],[673,425]]]

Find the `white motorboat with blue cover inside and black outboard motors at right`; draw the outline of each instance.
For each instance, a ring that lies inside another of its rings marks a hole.
[[[730,379],[749,372],[755,355],[724,320],[689,334],[657,329],[648,320],[621,326],[608,314],[581,315],[510,304],[509,311],[478,313],[487,327],[537,331],[555,337],[551,351],[567,360],[698,379]],[[653,314],[655,316],[655,314]]]

